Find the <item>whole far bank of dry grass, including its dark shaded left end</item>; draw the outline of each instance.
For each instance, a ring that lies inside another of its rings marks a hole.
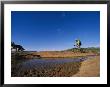
[[[76,58],[76,57],[86,57],[89,55],[96,55],[92,52],[81,53],[81,52],[72,52],[72,51],[42,51],[42,52],[18,52],[15,53],[19,58]],[[40,57],[38,57],[40,56]]]

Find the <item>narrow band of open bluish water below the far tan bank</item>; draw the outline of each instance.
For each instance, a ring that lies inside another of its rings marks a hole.
[[[22,69],[50,68],[58,64],[70,63],[70,62],[82,62],[91,58],[94,58],[93,55],[90,55],[89,57],[81,57],[81,58],[30,59],[22,62],[20,66],[22,67]]]

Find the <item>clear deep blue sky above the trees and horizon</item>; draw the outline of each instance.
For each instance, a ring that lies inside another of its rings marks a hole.
[[[11,38],[26,50],[64,50],[100,46],[98,11],[12,11]]]

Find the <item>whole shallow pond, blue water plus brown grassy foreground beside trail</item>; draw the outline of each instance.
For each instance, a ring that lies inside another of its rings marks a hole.
[[[80,58],[41,58],[15,60],[11,66],[12,77],[72,76],[79,72],[82,61],[95,58],[94,55]]]

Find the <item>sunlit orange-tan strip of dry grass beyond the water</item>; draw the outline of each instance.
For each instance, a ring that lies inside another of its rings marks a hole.
[[[34,55],[40,55],[43,58],[65,58],[65,57],[81,57],[81,56],[88,56],[94,55],[94,53],[80,53],[80,52],[71,52],[71,51],[46,51],[46,52],[34,52]]]

